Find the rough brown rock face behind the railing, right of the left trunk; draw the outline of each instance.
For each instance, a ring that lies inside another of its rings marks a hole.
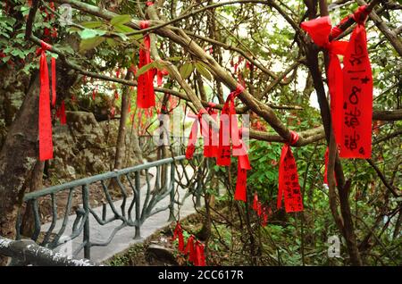
[[[113,170],[119,121],[101,121],[93,113],[66,112],[67,125],[54,126],[50,180],[67,181]],[[58,122],[57,122],[58,123]],[[138,138],[126,136],[125,165],[142,163]]]

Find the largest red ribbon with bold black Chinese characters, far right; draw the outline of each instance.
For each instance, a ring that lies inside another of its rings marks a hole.
[[[339,156],[367,159],[372,155],[373,74],[367,52],[366,6],[354,14],[356,28],[343,59],[343,119]]]

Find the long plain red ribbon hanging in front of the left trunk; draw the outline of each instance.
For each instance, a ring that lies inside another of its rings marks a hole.
[[[46,161],[53,159],[52,141],[52,119],[50,114],[50,90],[49,90],[49,71],[47,67],[46,50],[52,46],[41,41],[39,73],[40,73],[40,93],[39,93],[39,160]],[[52,78],[55,81],[55,78]]]

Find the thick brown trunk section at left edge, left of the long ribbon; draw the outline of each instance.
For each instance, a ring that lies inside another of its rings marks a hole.
[[[0,236],[15,237],[18,205],[38,157],[38,73],[0,152]],[[3,258],[0,265],[5,264]]]

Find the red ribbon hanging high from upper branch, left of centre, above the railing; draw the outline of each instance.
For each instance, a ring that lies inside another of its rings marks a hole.
[[[148,21],[139,22],[139,27],[141,29],[147,29],[148,26]],[[151,39],[149,38],[149,35],[144,36],[143,45],[144,46],[139,49],[138,69],[151,63],[151,55],[149,53]],[[137,105],[139,108],[149,108],[155,106],[154,71],[152,70],[148,70],[147,72],[138,76]]]

